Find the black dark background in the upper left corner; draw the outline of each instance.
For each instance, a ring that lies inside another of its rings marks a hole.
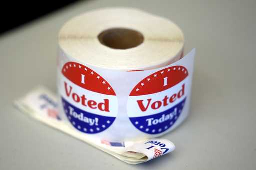
[[[0,34],[79,0],[9,0],[0,3]]]

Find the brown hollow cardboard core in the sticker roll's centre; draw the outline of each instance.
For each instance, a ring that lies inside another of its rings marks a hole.
[[[133,29],[110,28],[99,33],[98,40],[101,44],[113,49],[128,49],[141,44],[144,37]]]

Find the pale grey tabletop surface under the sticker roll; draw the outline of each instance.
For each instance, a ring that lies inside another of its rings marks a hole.
[[[60,26],[103,6],[138,7],[170,18],[184,31],[186,50],[197,49],[190,116],[164,136],[176,150],[136,166],[40,124],[12,105],[39,84],[56,91]],[[0,170],[255,170],[255,8],[255,0],[89,0],[1,35]]]

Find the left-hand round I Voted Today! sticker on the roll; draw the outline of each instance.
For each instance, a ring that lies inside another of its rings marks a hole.
[[[80,132],[106,130],[117,115],[117,98],[108,82],[90,68],[67,62],[61,70],[62,107],[71,125]]]

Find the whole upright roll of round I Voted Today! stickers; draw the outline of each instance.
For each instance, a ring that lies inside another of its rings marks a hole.
[[[170,20],[133,8],[92,10],[67,21],[58,42],[61,119],[77,132],[135,141],[187,116],[191,61],[180,59],[183,33]]]

